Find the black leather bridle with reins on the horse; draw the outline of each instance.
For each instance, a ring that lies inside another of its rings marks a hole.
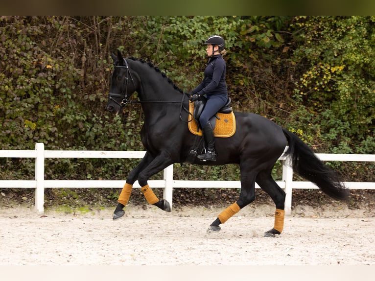
[[[119,66],[119,65],[117,65],[117,63],[118,63],[118,61],[116,61],[114,63],[114,67],[115,68],[124,68],[124,69],[126,69],[124,85],[122,87],[121,94],[116,94],[116,93],[109,92],[108,96],[109,96],[109,99],[112,100],[112,101],[114,101],[118,106],[120,106],[121,108],[123,108],[128,103],[161,103],[161,102],[162,103],[180,103],[180,119],[182,121],[184,121],[184,122],[190,122],[190,121],[192,121],[194,119],[192,117],[192,114],[189,112],[189,110],[183,104],[184,99],[185,99],[185,95],[187,95],[185,92],[182,92],[182,100],[181,101],[128,100],[128,83],[129,83],[129,77],[130,77],[130,80],[133,83],[133,86],[135,86],[134,79],[133,79],[133,76],[132,76],[132,72],[130,71],[128,62],[125,59],[124,59],[124,63],[125,63],[124,66]],[[113,73],[112,73],[112,75],[113,75]],[[111,78],[111,80],[112,80],[112,78]],[[120,97],[120,98],[122,98],[122,101],[119,103],[116,99],[114,99],[114,97]],[[182,119],[182,109],[184,109],[188,113],[188,115],[191,115],[191,119],[190,120],[185,121],[185,120]]]

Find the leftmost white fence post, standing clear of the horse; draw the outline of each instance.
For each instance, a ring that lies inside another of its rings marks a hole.
[[[44,212],[44,143],[35,143],[35,209],[38,213]]]

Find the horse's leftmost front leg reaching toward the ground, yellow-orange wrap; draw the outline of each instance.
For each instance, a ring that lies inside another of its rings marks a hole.
[[[123,208],[126,206],[126,204],[129,201],[130,194],[133,188],[133,184],[138,179],[140,172],[145,167],[147,167],[153,160],[154,160],[154,157],[152,157],[149,152],[146,152],[141,162],[133,170],[130,171],[128,177],[126,178],[126,183],[124,187],[122,188],[120,195],[118,196],[118,203],[113,213],[113,219],[120,218],[125,214],[125,212],[123,211]]]

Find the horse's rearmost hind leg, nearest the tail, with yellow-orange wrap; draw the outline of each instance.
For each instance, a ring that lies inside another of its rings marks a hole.
[[[284,227],[285,192],[274,181],[271,176],[271,171],[259,172],[256,182],[265,192],[268,193],[268,195],[270,195],[276,205],[274,227],[267,231],[264,236],[273,237],[275,234],[281,234]]]

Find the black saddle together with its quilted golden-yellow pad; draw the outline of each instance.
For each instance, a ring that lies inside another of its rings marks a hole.
[[[192,134],[202,136],[201,126],[199,124],[199,116],[205,107],[207,98],[189,103],[189,112],[194,120],[188,123],[189,130]],[[235,133],[235,117],[231,107],[231,98],[228,97],[227,103],[210,118],[213,134],[218,138],[229,138]]]

